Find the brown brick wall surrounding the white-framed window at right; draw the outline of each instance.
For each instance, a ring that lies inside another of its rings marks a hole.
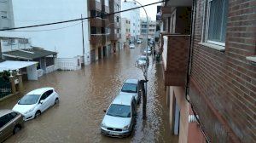
[[[189,95],[212,140],[256,141],[256,1],[230,0],[225,51],[199,44],[203,0],[196,3]]]

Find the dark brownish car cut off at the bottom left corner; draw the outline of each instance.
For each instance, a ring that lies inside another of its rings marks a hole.
[[[19,112],[0,110],[0,142],[16,134],[23,127],[23,117]]]

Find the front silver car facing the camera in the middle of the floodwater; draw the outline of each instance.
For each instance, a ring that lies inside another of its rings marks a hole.
[[[101,132],[112,137],[129,136],[136,123],[136,100],[132,95],[119,94],[103,117]]]

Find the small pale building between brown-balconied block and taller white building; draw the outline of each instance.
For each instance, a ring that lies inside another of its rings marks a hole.
[[[122,18],[121,25],[122,43],[124,43],[124,45],[127,45],[130,43],[131,38],[131,21],[126,18]]]

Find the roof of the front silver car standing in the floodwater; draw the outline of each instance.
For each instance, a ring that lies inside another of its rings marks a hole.
[[[115,97],[112,104],[131,106],[131,100],[134,99],[132,94],[119,94]]]

